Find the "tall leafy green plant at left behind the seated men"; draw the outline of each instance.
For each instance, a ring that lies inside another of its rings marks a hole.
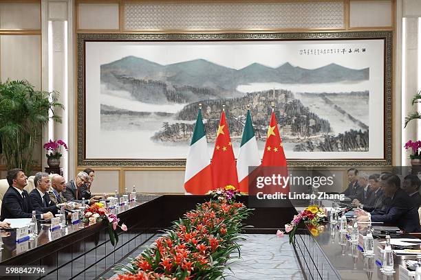
[[[64,108],[55,91],[36,91],[26,80],[0,82],[0,139],[8,169],[32,174],[33,152],[49,119],[61,122],[54,110]]]

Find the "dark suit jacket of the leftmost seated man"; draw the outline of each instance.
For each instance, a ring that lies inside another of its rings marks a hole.
[[[0,220],[6,218],[32,218],[32,210],[35,210],[32,206],[28,191],[23,189],[23,198],[14,187],[9,187],[3,196],[3,202],[1,203],[1,215]],[[41,212],[36,211],[36,219],[41,218]]]

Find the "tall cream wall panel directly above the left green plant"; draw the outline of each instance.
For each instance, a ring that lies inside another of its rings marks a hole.
[[[0,36],[1,80],[28,80],[41,89],[41,36]]]

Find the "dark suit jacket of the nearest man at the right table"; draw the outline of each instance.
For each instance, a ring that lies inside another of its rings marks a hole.
[[[418,208],[409,195],[398,189],[385,207],[385,213],[371,215],[371,222],[385,222],[398,226],[407,233],[420,231]]]

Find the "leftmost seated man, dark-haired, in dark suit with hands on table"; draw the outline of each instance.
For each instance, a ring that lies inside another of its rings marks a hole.
[[[6,218],[32,218],[32,210],[35,209],[32,207],[28,191],[23,189],[25,185],[28,185],[25,173],[23,173],[23,170],[15,168],[8,171],[6,178],[8,179],[9,188],[3,196],[0,220]],[[51,212],[41,213],[36,211],[37,219],[50,220],[52,217],[53,214]]]

